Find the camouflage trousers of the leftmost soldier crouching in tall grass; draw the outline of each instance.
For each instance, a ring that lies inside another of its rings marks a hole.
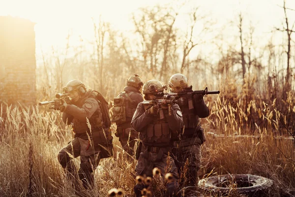
[[[75,137],[59,151],[59,163],[65,169],[66,176],[74,187],[79,188],[78,179],[82,181],[84,188],[94,187],[93,171],[100,161],[100,149],[100,147],[92,147],[89,140]],[[77,174],[72,159],[79,156],[80,168]]]

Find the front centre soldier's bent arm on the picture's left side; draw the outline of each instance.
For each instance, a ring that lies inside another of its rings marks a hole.
[[[145,111],[143,103],[137,105],[136,111],[131,120],[131,127],[138,132],[141,132],[149,123],[152,122],[153,115],[149,115]]]

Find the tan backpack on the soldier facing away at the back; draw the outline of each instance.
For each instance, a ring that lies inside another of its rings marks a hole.
[[[130,96],[134,92],[126,93],[120,92],[116,98],[114,98],[112,107],[112,122],[117,124],[123,124],[126,122],[126,110],[129,108],[129,102],[134,103]],[[133,114],[132,114],[133,115]],[[129,117],[130,118],[130,117]]]

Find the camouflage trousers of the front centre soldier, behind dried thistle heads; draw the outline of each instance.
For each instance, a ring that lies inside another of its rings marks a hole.
[[[167,188],[167,197],[176,197],[177,192],[179,191],[178,186],[178,168],[174,162],[174,159],[168,156],[167,151],[165,148],[160,148],[159,152],[148,152],[146,149],[144,152],[140,153],[138,162],[135,167],[135,171],[137,175],[146,175],[149,177],[153,176],[153,168],[159,168],[161,175],[165,177],[167,173],[171,173],[173,177],[169,181],[165,182],[165,186]],[[136,189],[140,188],[136,185],[134,187],[134,192],[136,196],[140,196],[139,192]],[[140,188],[143,189],[144,187]]]

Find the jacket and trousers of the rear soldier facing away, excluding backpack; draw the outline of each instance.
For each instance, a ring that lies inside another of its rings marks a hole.
[[[136,132],[130,124],[138,103],[142,102],[144,99],[140,91],[133,86],[126,86],[124,92],[119,93],[117,98],[126,97],[125,94],[128,95],[132,102],[126,98],[126,122],[117,124],[117,132],[115,134],[119,137],[124,151],[129,155],[133,155],[134,145],[136,139],[138,139],[138,132]]]

